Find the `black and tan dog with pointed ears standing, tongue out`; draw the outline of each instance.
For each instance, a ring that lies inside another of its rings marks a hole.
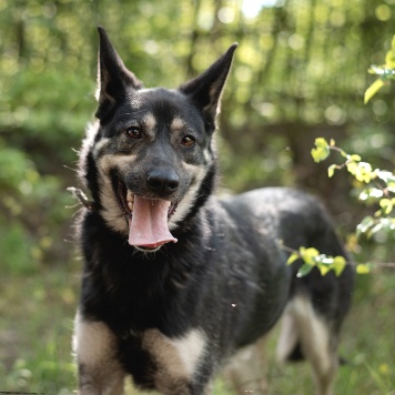
[[[209,394],[283,316],[278,357],[310,361],[317,393],[331,394],[353,270],[297,277],[301,263],[287,265],[280,243],[348,261],[328,215],[292,189],[213,195],[216,115],[236,44],[178,89],[145,89],[101,27],[99,36],[97,120],[79,154],[91,194],[79,219],[79,393],[122,394],[131,376],[141,391]],[[264,391],[255,362],[242,365],[235,391]]]

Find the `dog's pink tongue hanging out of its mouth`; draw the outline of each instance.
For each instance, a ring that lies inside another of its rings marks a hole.
[[[129,244],[156,249],[174,242],[168,226],[170,202],[134,195],[133,215],[129,220]]]

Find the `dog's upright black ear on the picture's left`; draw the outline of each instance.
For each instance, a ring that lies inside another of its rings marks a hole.
[[[95,117],[101,120],[115,103],[125,98],[128,91],[141,89],[143,84],[125,68],[105,30],[99,27],[98,31],[100,37],[97,91],[99,108]]]

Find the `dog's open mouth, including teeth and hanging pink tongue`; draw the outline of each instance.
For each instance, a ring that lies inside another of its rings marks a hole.
[[[139,196],[121,181],[118,194],[129,222],[130,245],[155,251],[165,243],[176,242],[169,231],[169,220],[175,213],[176,202]]]

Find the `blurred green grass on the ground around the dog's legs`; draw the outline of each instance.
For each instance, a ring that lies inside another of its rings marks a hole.
[[[79,294],[78,264],[41,267],[29,275],[6,272],[0,287],[0,392],[73,393],[71,333]],[[341,350],[348,364],[340,369],[337,394],[395,394],[394,311],[395,271],[357,277]],[[308,366],[280,368],[274,348],[275,333],[267,353],[270,393],[312,394]],[[232,393],[229,382],[216,381],[215,395]],[[128,394],[138,393],[129,389]]]

